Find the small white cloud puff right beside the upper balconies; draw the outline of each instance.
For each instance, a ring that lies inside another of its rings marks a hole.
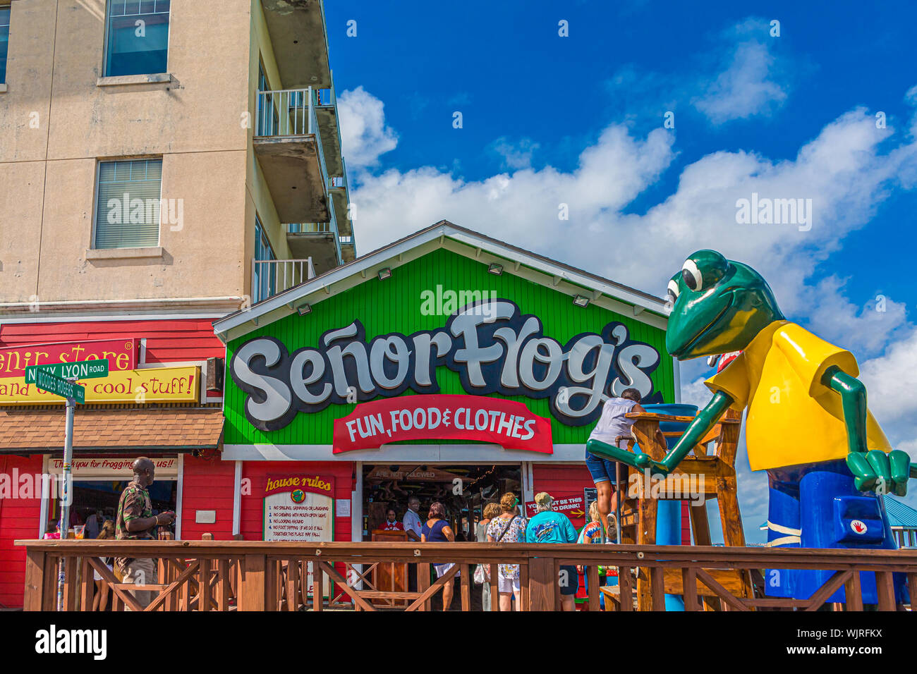
[[[398,135],[385,124],[382,102],[362,86],[337,96],[337,115],[348,168],[376,166],[382,154],[398,145]]]

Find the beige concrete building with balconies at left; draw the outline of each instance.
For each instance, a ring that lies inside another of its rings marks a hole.
[[[5,7],[0,317],[220,315],[353,260],[320,0]]]

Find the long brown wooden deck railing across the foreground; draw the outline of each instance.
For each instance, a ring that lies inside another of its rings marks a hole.
[[[599,609],[597,567],[618,569],[619,590],[605,588],[606,609],[664,611],[665,595],[679,594],[685,608],[748,611],[795,609],[814,611],[835,591],[845,588],[845,610],[863,609],[860,572],[876,574],[878,609],[897,606],[893,573],[904,574],[917,588],[917,550],[812,549],[703,546],[524,545],[495,543],[266,543],[261,541],[17,541],[27,548],[25,609],[50,611],[57,605],[58,563],[66,560],[64,610],[92,610],[98,571],[112,592],[111,610],[141,610],[130,590],[153,591],[147,611],[320,611],[338,599],[354,608],[377,610],[372,600],[403,600],[407,611],[428,611],[430,600],[460,571],[458,598],[470,610],[476,564],[492,565],[493,608],[497,604],[497,564],[519,564],[521,608],[551,611],[560,606],[560,565],[587,567],[592,592],[590,610]],[[120,583],[100,560],[107,557],[155,558],[158,582],[144,586]],[[456,564],[431,583],[429,565]],[[368,569],[376,563],[412,563],[418,568],[414,592],[373,588]],[[311,587],[306,581],[312,574]],[[360,568],[362,570],[360,570]],[[833,575],[806,600],[765,596],[762,569],[825,569]],[[317,572],[318,570],[322,573]],[[730,582],[745,571],[754,579],[754,596],[742,583]],[[324,577],[333,588],[324,586]],[[639,583],[637,579],[647,580]],[[310,596],[311,595],[311,596]],[[397,602],[392,602],[397,603]]]

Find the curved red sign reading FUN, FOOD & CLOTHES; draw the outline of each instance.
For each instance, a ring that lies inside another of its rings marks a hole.
[[[481,395],[405,395],[335,420],[334,453],[400,440],[475,440],[551,454],[551,424],[523,403]]]

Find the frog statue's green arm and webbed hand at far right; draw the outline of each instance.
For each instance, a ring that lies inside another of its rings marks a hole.
[[[822,383],[841,396],[847,432],[847,468],[854,474],[860,492],[893,493],[904,496],[908,479],[917,477],[907,452],[893,449],[888,454],[867,447],[866,386],[836,365],[825,370]]]

